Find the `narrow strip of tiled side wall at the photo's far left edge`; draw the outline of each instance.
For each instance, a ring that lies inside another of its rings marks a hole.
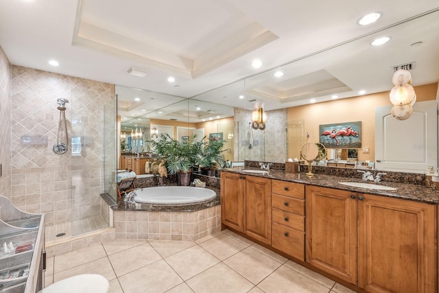
[[[11,65],[0,47],[0,195],[11,198]]]

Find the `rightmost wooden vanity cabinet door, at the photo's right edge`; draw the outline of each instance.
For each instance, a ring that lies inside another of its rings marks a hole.
[[[367,292],[437,292],[436,205],[363,195],[359,287]]]

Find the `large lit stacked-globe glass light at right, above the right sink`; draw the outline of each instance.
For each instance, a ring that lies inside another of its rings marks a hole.
[[[405,69],[395,71],[392,83],[394,87],[390,91],[390,102],[392,102],[393,107],[390,113],[395,119],[405,120],[412,115],[412,106],[416,102],[410,71]]]

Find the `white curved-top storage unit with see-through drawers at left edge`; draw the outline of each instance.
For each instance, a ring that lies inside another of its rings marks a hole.
[[[0,196],[0,292],[44,288],[45,215],[24,213]]]

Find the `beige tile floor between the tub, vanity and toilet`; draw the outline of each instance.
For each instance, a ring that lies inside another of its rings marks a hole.
[[[225,230],[196,242],[115,239],[47,259],[46,285],[102,274],[109,292],[353,292]]]

